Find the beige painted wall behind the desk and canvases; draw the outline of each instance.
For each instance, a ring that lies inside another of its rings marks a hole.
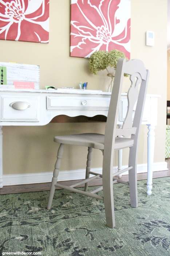
[[[154,8],[153,8],[154,7]],[[159,17],[159,18],[158,18]],[[158,126],[155,129],[155,162],[165,160],[166,120],[166,25],[167,1],[131,0],[131,58],[144,61],[150,70],[148,93],[160,94]],[[107,80],[103,74],[88,72],[87,59],[69,57],[70,1],[50,1],[50,43],[0,41],[1,61],[39,64],[41,88],[45,85],[77,86],[88,81],[88,89],[106,90]],[[145,46],[145,31],[155,32],[155,46]],[[125,89],[124,89],[125,90]],[[53,143],[54,135],[76,132],[104,132],[102,123],[48,124],[43,127],[3,128],[4,174],[52,171],[58,145]],[[62,170],[84,168],[86,148],[65,148]],[[138,163],[146,163],[147,128],[142,127]],[[127,150],[124,162],[127,160]],[[116,164],[116,162],[114,163]],[[102,154],[94,151],[93,167],[102,166]]]

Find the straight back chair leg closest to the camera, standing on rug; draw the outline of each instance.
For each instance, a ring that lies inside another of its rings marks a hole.
[[[114,213],[114,198],[113,198],[113,157],[104,156],[103,158],[103,196],[104,208],[106,215],[106,225],[108,227],[115,227],[115,213]]]

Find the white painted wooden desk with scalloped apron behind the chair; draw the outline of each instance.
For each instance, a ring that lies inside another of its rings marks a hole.
[[[70,117],[103,115],[107,117],[111,93],[75,90],[8,90],[0,89],[0,188],[3,187],[2,128],[6,125],[46,125],[58,115]],[[147,194],[151,195],[154,158],[154,128],[157,125],[158,95],[147,95],[142,124],[147,125]],[[20,109],[20,110],[18,110]],[[135,109],[134,109],[135,110]],[[123,124],[127,111],[127,95],[122,94],[118,125]],[[118,153],[122,166],[122,150]]]

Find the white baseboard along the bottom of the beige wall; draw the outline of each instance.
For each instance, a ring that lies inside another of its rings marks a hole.
[[[122,166],[126,168],[128,166]],[[155,162],[153,165],[154,172],[167,170],[166,162]],[[102,168],[91,168],[92,172],[102,173]],[[113,172],[117,171],[117,166],[114,166]],[[68,180],[82,180],[85,177],[85,169],[61,171],[59,173],[58,181]],[[137,173],[146,173],[147,164],[137,165]],[[27,173],[27,174],[7,174],[3,175],[3,186],[21,185],[21,184],[35,184],[51,182],[53,172]],[[124,172],[122,175],[126,175]]]

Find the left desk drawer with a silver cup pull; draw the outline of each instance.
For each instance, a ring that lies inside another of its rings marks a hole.
[[[1,97],[0,121],[39,122],[39,97]]]

